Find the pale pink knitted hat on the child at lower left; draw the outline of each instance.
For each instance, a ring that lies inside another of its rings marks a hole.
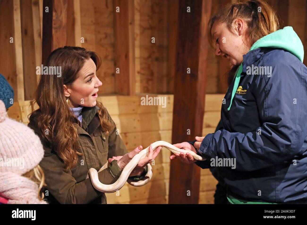
[[[0,173],[25,174],[41,161],[40,138],[23,123],[10,119],[0,100]]]

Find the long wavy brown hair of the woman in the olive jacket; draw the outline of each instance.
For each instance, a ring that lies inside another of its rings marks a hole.
[[[76,166],[78,156],[78,134],[74,127],[75,115],[69,109],[64,95],[64,84],[68,87],[79,77],[79,71],[87,59],[92,59],[96,71],[101,58],[93,51],[81,47],[65,46],[57,48],[49,55],[44,66],[61,66],[61,76],[41,75],[31,107],[37,103],[38,109],[28,115],[29,126],[35,127],[41,140],[63,160],[64,169]],[[97,101],[100,128],[108,134],[114,128],[108,118],[107,110]],[[81,123],[78,122],[81,126]],[[48,131],[48,132],[47,132]]]

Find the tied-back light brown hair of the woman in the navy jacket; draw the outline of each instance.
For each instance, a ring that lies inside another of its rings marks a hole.
[[[261,12],[258,12],[258,9],[261,9]],[[248,46],[252,46],[258,39],[279,29],[278,17],[265,1],[251,0],[229,4],[213,14],[208,22],[207,35],[211,47],[216,47],[216,42],[211,35],[214,22],[226,23],[227,28],[232,32],[233,22],[239,18],[247,23],[245,41]],[[228,79],[231,81],[238,67],[239,65],[235,65],[229,71]]]

